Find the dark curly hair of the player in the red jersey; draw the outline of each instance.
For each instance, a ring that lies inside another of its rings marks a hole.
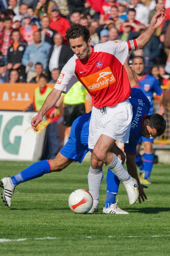
[[[79,38],[80,36],[82,36],[83,40],[88,43],[90,31],[86,28],[86,26],[81,24],[73,24],[70,28],[67,28],[65,37],[68,41],[69,39]]]

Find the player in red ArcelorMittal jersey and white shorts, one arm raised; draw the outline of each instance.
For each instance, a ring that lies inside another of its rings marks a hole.
[[[121,160],[110,152],[116,140],[128,142],[132,119],[131,104],[128,101],[131,88],[123,64],[128,51],[142,48],[164,19],[164,10],[160,9],[147,30],[136,40],[108,41],[94,47],[91,46],[89,30],[80,24],[72,25],[66,31],[66,39],[75,55],[66,63],[53,91],[31,121],[32,127],[37,130],[37,124],[55,105],[61,93],[67,93],[79,80],[92,96],[93,103],[88,141],[89,148],[93,149],[90,170],[98,172],[99,161],[105,163],[123,181],[131,205],[139,196],[137,182],[123,168]],[[53,161],[49,161],[50,165],[53,165]]]

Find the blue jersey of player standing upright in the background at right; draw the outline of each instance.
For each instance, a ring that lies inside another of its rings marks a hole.
[[[151,115],[154,113],[153,93],[155,92],[156,95],[161,95],[163,90],[155,76],[144,75],[138,82],[142,91],[151,103],[151,108],[149,111],[149,115]]]

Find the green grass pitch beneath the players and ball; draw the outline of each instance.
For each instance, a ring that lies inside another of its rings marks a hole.
[[[1,178],[14,175],[30,162],[1,161]],[[168,256],[169,165],[156,164],[148,200],[130,206],[123,184],[118,206],[129,215],[103,214],[106,168],[100,189],[99,212],[75,214],[68,197],[75,189],[87,189],[89,163],[72,163],[60,173],[46,174],[16,187],[11,208],[0,202],[0,248],[5,256],[137,255]],[[1,242],[1,239],[25,241]],[[37,240],[44,238],[44,240]],[[54,238],[54,239],[49,239]]]

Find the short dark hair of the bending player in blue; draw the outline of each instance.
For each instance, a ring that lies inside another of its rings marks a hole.
[[[150,128],[155,128],[157,132],[157,136],[161,136],[162,133],[166,129],[166,121],[160,114],[151,114],[150,116],[146,116],[145,119],[149,119],[148,126]]]

